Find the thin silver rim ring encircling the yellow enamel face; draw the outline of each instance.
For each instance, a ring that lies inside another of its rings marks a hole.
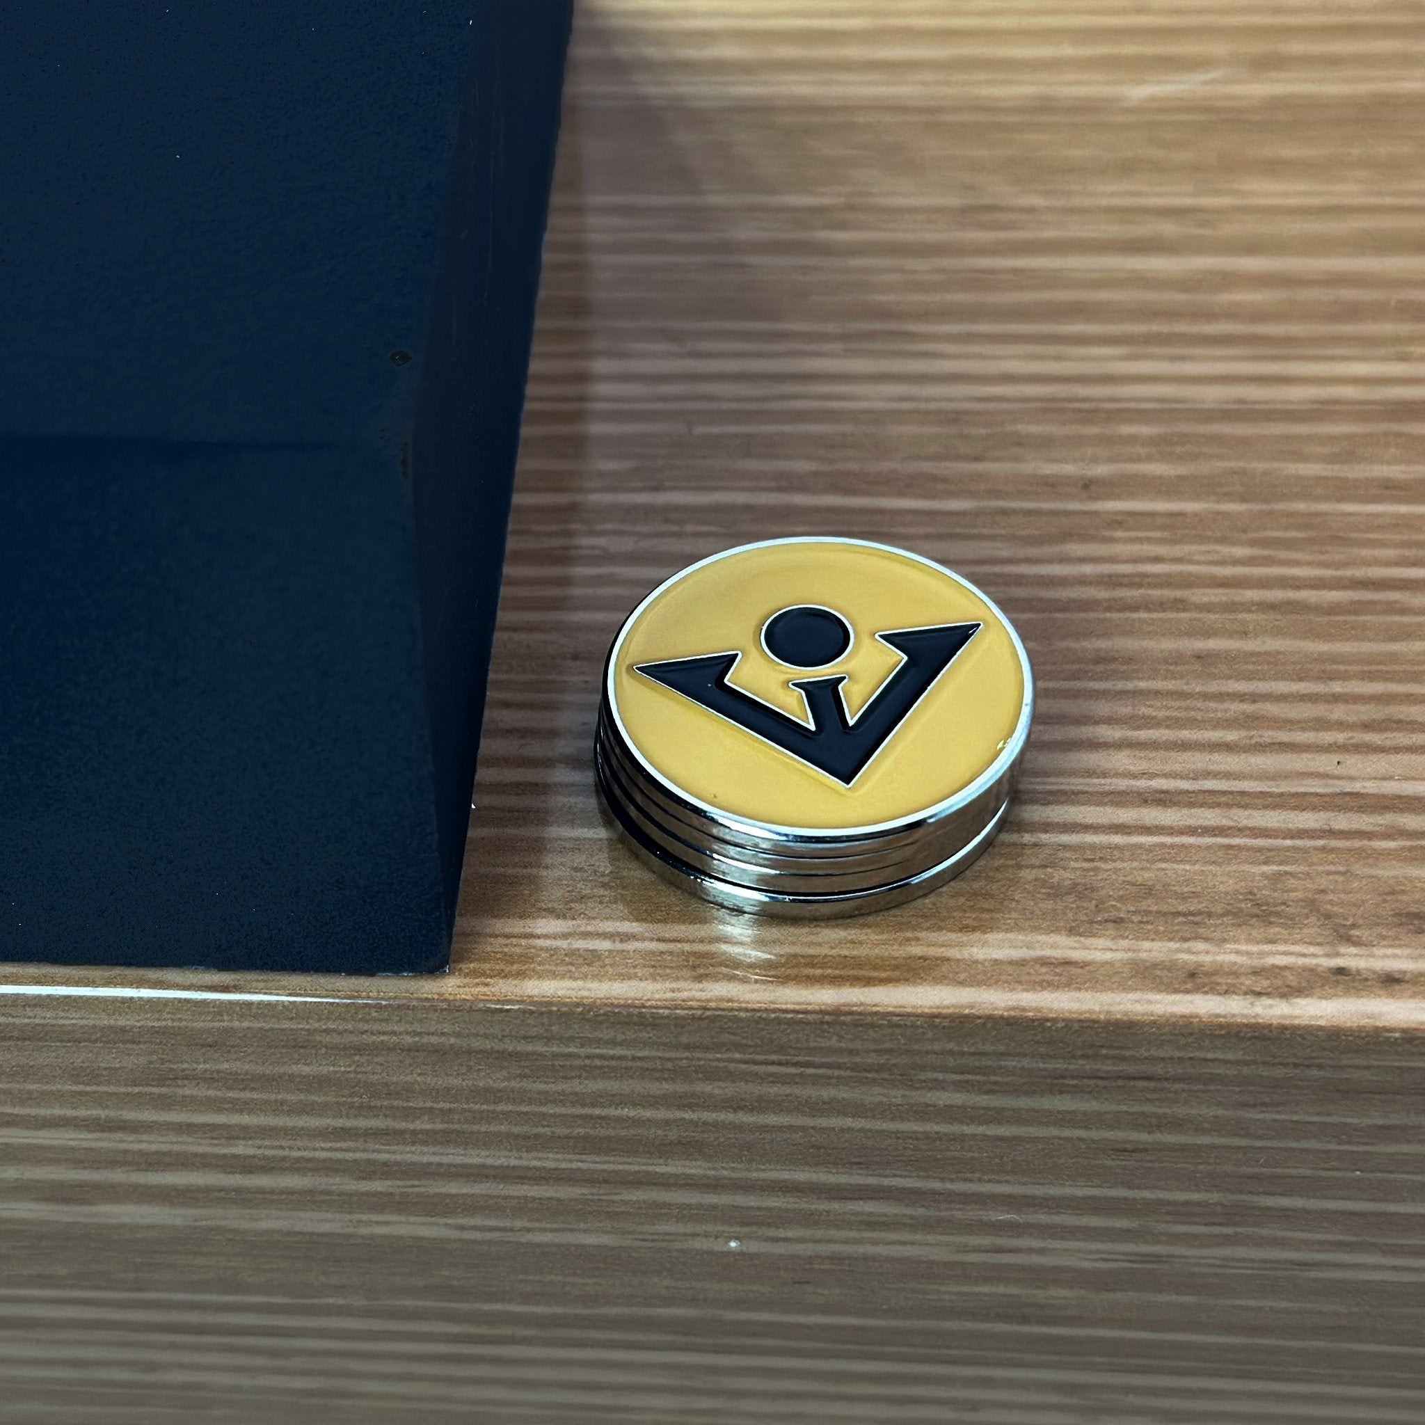
[[[701,801],[697,797],[683,791],[674,785],[668,778],[665,778],[648,760],[638,751],[634,745],[633,738],[628,737],[627,728],[623,725],[623,718],[618,715],[618,701],[614,697],[614,668],[617,667],[618,650],[623,647],[623,641],[628,634],[628,630],[634,626],[640,614],[651,604],[664,590],[671,589],[680,580],[685,579],[695,570],[704,569],[708,564],[714,564],[720,560],[730,559],[734,554],[742,554],[752,549],[770,549],[782,544],[846,544],[859,549],[878,549],[885,550],[891,554],[899,554],[905,559],[912,559],[919,564],[925,564],[928,569],[933,569],[936,573],[945,574],[948,579],[955,580],[955,583],[968,589],[978,598],[982,598],[988,607],[1000,618],[1005,624],[1006,631],[1015,646],[1015,651],[1019,656],[1020,673],[1025,681],[1025,693],[1020,701],[1019,720],[1015,724],[1015,731],[1005,748],[1000,751],[999,757],[973,782],[962,788],[953,797],[948,797],[943,801],[935,804],[933,807],[926,807],[919,812],[913,812],[909,817],[899,817],[893,821],[875,822],[866,826],[845,826],[828,829],[825,826],[778,826],[771,822],[754,821],[747,817],[732,817],[721,808],[712,807],[708,802]],[[906,831],[912,834],[912,838],[928,828],[929,824],[942,821],[943,818],[953,815],[962,807],[975,802],[978,798],[983,797],[990,788],[993,788],[1002,778],[1012,772],[1013,767],[1019,762],[1023,755],[1025,744],[1029,740],[1029,728],[1033,722],[1035,712],[1035,677],[1033,670],[1029,664],[1029,654],[1020,641],[1019,633],[1015,626],[1005,616],[1003,610],[996,604],[982,589],[978,589],[968,579],[960,577],[953,570],[946,569],[943,564],[938,564],[932,559],[926,559],[923,554],[915,554],[909,550],[896,549],[892,544],[881,544],[875,540],[861,540],[861,539],[845,539],[842,536],[819,536],[819,534],[799,534],[788,539],[770,539],[770,540],[754,540],[750,544],[738,544],[732,549],[721,550],[717,554],[710,554],[707,559],[701,559],[694,564],[688,564],[687,569],[680,570],[671,579],[665,579],[657,589],[654,589],[647,597],[644,597],[631,614],[623,621],[613,644],[608,648],[608,657],[604,663],[604,690],[603,690],[603,707],[606,714],[618,734],[618,741],[628,754],[638,762],[647,778],[660,787],[665,794],[675,798],[677,801],[685,804],[690,809],[698,812],[701,817],[710,819],[715,825],[724,826],[724,835],[735,832],[738,836],[757,838],[760,842],[775,842],[792,839],[801,844],[815,844],[822,842],[838,842],[845,844],[846,841],[866,841],[874,839],[881,835],[893,834],[896,831]]]

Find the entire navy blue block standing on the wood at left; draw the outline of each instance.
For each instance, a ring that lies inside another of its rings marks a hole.
[[[445,963],[567,19],[4,7],[0,958]]]

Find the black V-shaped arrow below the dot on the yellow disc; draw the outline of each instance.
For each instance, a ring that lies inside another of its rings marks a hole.
[[[872,694],[854,722],[846,718],[839,691],[846,681],[844,673],[792,681],[791,687],[799,688],[807,698],[812,722],[807,727],[728,683],[738,660],[735,653],[640,663],[636,671],[849,787],[980,627],[978,623],[939,624],[881,634],[882,643],[905,661]]]

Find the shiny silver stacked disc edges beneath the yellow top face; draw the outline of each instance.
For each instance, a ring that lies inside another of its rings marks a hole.
[[[660,785],[620,735],[607,698],[596,768],[607,814],[651,869],[728,909],[805,918],[899,905],[958,876],[999,831],[1013,777],[939,818],[874,835],[771,828],[710,814]]]

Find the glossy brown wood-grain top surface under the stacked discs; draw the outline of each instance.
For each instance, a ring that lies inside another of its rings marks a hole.
[[[455,973],[4,978],[1425,1025],[1422,51],[1404,0],[586,0]],[[1040,678],[996,848],[825,928],[653,879],[589,767],[637,598],[789,533],[943,560]]]

